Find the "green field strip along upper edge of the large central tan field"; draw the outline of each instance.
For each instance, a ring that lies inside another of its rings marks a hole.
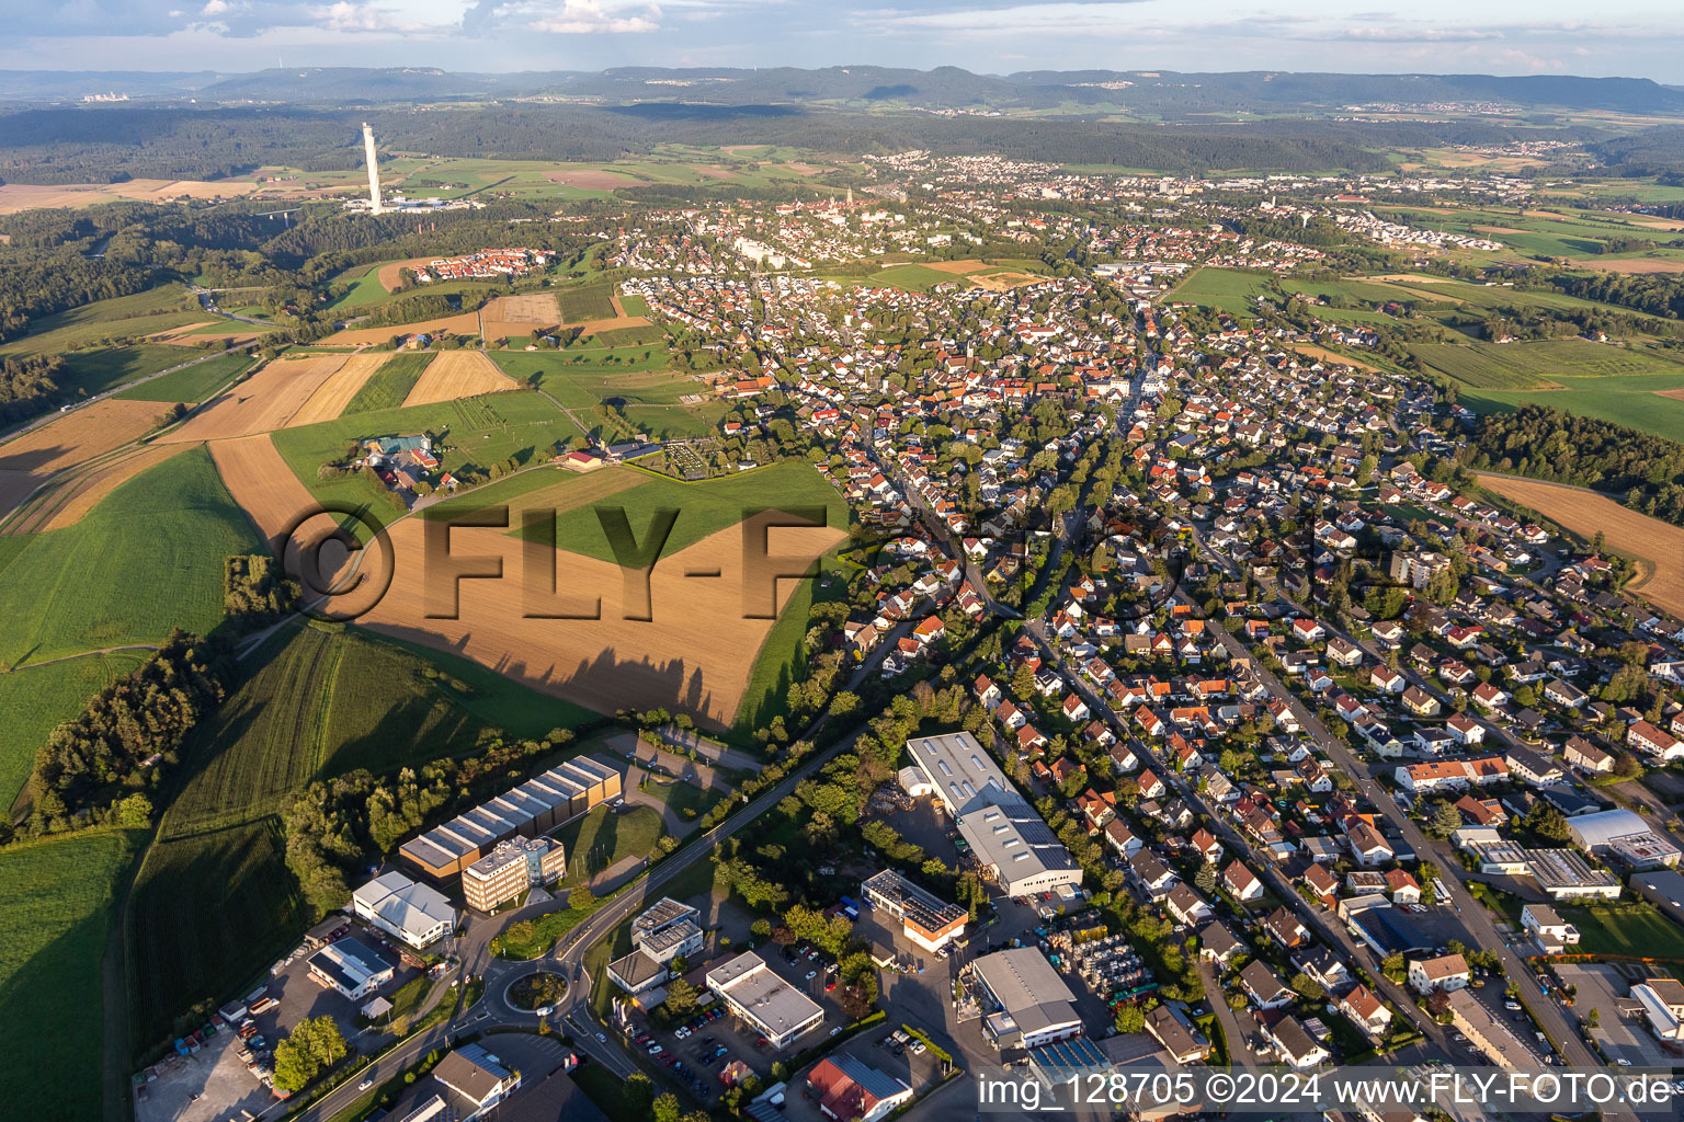
[[[638,547],[645,545],[657,510],[679,511],[662,557],[677,553],[701,542],[709,533],[738,525],[761,510],[825,508],[832,527],[847,525],[847,510],[835,488],[805,461],[781,461],[734,476],[706,479],[702,483],[677,483],[665,476],[650,476],[635,488],[606,500],[606,506],[620,506],[626,513]],[[539,533],[542,528],[539,530]],[[520,533],[519,530],[515,532]],[[556,520],[556,543],[574,553],[598,560],[615,560],[613,548],[596,516],[594,505],[561,511]]]

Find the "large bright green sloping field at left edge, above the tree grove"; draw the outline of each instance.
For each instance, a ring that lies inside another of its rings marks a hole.
[[[200,634],[222,621],[222,560],[266,545],[194,447],[130,479],[74,527],[37,533],[7,565],[0,659],[45,661]]]

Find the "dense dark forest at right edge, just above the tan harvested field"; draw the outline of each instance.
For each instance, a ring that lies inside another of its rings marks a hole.
[[[1622,496],[1627,506],[1684,525],[1684,444],[1546,405],[1521,405],[1479,422],[1474,468],[1573,483]]]

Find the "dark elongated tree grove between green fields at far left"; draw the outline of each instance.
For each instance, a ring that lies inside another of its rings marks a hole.
[[[29,779],[30,833],[66,829],[71,816],[155,782],[182,738],[226,696],[227,653],[175,629],[140,669],[106,686],[52,730]]]

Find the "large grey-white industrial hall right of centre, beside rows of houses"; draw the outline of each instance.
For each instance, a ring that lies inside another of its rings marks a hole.
[[[968,732],[906,742],[960,836],[1012,897],[1081,886],[1081,866]]]

